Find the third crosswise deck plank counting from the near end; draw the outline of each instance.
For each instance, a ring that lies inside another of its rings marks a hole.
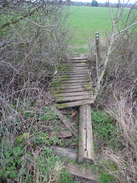
[[[59,93],[55,94],[55,97],[69,97],[69,96],[85,96],[92,95],[92,92],[84,91],[84,92],[72,92],[72,93]]]

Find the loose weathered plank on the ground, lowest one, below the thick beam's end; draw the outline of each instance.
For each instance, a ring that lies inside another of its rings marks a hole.
[[[70,174],[76,175],[76,176],[79,176],[79,177],[83,177],[83,178],[86,178],[86,179],[89,179],[89,180],[93,180],[93,181],[96,181],[96,183],[97,183],[97,178],[91,170],[87,170],[87,169],[85,169],[81,166],[72,165],[70,163],[68,163],[68,164],[66,163],[65,167],[66,167],[66,170],[68,172],[70,172]]]

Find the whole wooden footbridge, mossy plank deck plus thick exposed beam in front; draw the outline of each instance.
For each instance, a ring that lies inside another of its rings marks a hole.
[[[94,160],[91,106],[93,93],[85,57],[73,57],[62,62],[53,78],[51,90],[59,109],[80,106],[78,161]]]

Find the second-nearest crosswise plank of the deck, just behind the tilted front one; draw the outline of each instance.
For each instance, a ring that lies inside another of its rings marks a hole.
[[[59,97],[56,98],[57,102],[67,102],[67,101],[76,101],[76,100],[84,100],[84,99],[90,99],[91,97],[93,97],[92,94],[86,94],[84,96],[72,96],[72,97]]]

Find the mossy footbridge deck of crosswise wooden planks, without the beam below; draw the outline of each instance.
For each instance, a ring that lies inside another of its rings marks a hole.
[[[92,85],[87,60],[71,58],[62,62],[54,77],[51,90],[58,108],[93,103]]]

